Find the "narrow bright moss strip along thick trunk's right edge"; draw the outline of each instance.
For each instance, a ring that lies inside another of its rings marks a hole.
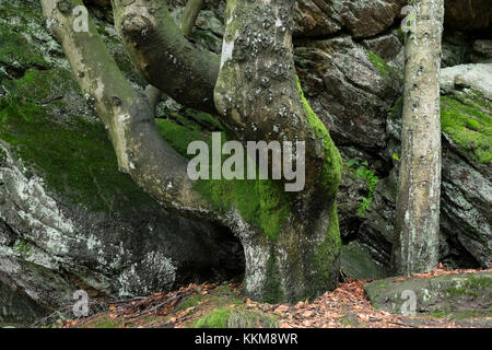
[[[320,175],[320,184],[328,197],[335,196],[338,191],[338,186],[341,180],[342,165],[340,152],[331,140],[330,133],[325,125],[319,120],[318,116],[311,108],[309,103],[304,96],[301,88],[298,77],[296,77],[297,90],[303,101],[304,109],[307,117],[307,122],[312,129],[315,130],[316,136],[323,140],[325,145],[325,163],[323,164],[323,172]]]

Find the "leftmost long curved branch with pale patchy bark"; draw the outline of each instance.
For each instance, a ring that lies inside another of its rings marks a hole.
[[[112,139],[120,171],[167,209],[194,217],[211,215],[192,190],[187,161],[165,143],[153,121],[153,106],[118,69],[93,23],[75,32],[73,9],[82,0],[42,0],[43,13],[81,86],[91,98]]]

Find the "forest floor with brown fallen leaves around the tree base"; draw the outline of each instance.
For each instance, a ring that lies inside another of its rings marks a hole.
[[[413,276],[431,278],[477,270],[435,269]],[[400,278],[399,280],[405,280]],[[46,318],[38,326],[62,328],[462,328],[491,327],[492,317],[441,313],[394,315],[374,308],[363,289],[368,280],[348,278],[332,292],[292,304],[253,302],[241,283],[189,284],[169,293],[131,300],[93,302],[92,315],[78,319]],[[98,310],[98,311],[97,311]],[[59,314],[60,315],[60,314]]]

